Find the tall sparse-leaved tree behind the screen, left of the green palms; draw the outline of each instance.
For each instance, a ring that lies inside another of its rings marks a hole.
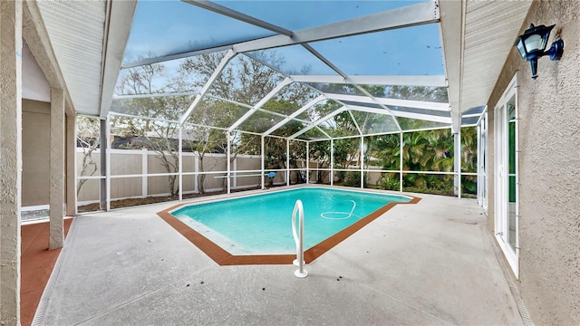
[[[253,54],[257,59],[270,62],[274,65],[281,65],[285,59],[276,53],[257,52]],[[195,82],[201,86],[209,79],[222,60],[222,55],[209,53],[189,58],[181,64],[180,71],[184,73],[197,73],[201,78]],[[211,95],[228,101],[236,101],[243,104],[255,105],[263,99],[266,94],[273,90],[275,86],[282,82],[284,76],[268,68],[262,62],[245,55],[238,56],[230,62],[227,67],[218,75],[210,90]],[[275,98],[266,102],[263,110],[289,115],[298,108],[301,103],[314,98],[312,91],[305,87],[291,84],[276,94]],[[204,100],[199,108],[194,110],[192,122],[207,126],[229,128],[247,111],[228,101]],[[238,154],[261,154],[261,139],[253,133],[262,133],[273,126],[273,116],[264,111],[256,111],[238,129],[250,132],[238,132],[232,135],[232,150],[230,159],[233,161]],[[278,135],[290,136],[297,130],[302,129],[301,123],[290,121],[285,126],[276,131]],[[223,133],[223,131],[222,131]],[[201,140],[207,144],[198,144],[200,162],[203,161],[204,153],[211,151],[214,146],[219,146],[219,142],[209,145],[212,137]],[[224,144],[222,141],[221,144]],[[285,140],[266,137],[265,139],[266,164],[268,168],[285,168]],[[292,152],[292,151],[291,151]],[[295,162],[291,158],[291,162]],[[292,164],[292,163],[291,163]],[[201,167],[203,170],[203,167]],[[199,184],[202,184],[204,177],[200,177]]]

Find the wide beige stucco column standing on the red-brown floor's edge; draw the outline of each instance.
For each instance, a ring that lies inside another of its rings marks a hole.
[[[50,183],[50,235],[48,248],[62,248],[64,243],[64,92],[51,89],[51,152]]]

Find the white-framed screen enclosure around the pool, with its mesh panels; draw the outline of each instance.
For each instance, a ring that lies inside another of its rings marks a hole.
[[[77,121],[80,205],[297,183],[483,200],[460,6],[140,2],[101,122]]]

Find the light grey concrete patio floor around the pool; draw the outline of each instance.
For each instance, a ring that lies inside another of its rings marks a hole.
[[[77,216],[34,324],[523,324],[476,201],[416,196],[305,279],[219,266],[156,215],[175,202]]]

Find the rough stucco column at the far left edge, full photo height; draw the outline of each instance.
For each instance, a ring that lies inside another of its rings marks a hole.
[[[22,5],[0,1],[0,324],[20,324]]]

